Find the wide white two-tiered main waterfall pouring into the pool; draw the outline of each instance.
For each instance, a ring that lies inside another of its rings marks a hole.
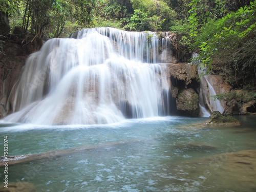
[[[168,115],[170,86],[157,64],[159,44],[155,32],[113,28],[48,40],[27,59],[10,97],[15,113],[6,120],[101,124]]]

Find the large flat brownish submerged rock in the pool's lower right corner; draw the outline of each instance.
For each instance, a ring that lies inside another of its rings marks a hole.
[[[227,143],[226,152],[236,151],[235,145]],[[210,155],[179,162],[173,169],[184,174],[181,179],[195,191],[256,191],[256,151],[239,151]],[[178,175],[178,174],[177,174]],[[181,174],[180,174],[181,175]],[[181,177],[181,176],[180,176]],[[206,188],[212,186],[214,188]]]

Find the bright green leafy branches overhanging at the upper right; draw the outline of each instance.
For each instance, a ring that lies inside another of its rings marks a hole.
[[[221,18],[218,18],[221,13],[199,7],[199,0],[190,5],[190,36],[194,37],[194,49],[198,48],[199,55],[194,60],[200,60],[200,67],[210,72],[212,61],[219,57],[222,63],[236,68],[234,75],[240,70],[253,69],[256,61],[256,1]],[[224,10],[221,11],[224,14]]]

